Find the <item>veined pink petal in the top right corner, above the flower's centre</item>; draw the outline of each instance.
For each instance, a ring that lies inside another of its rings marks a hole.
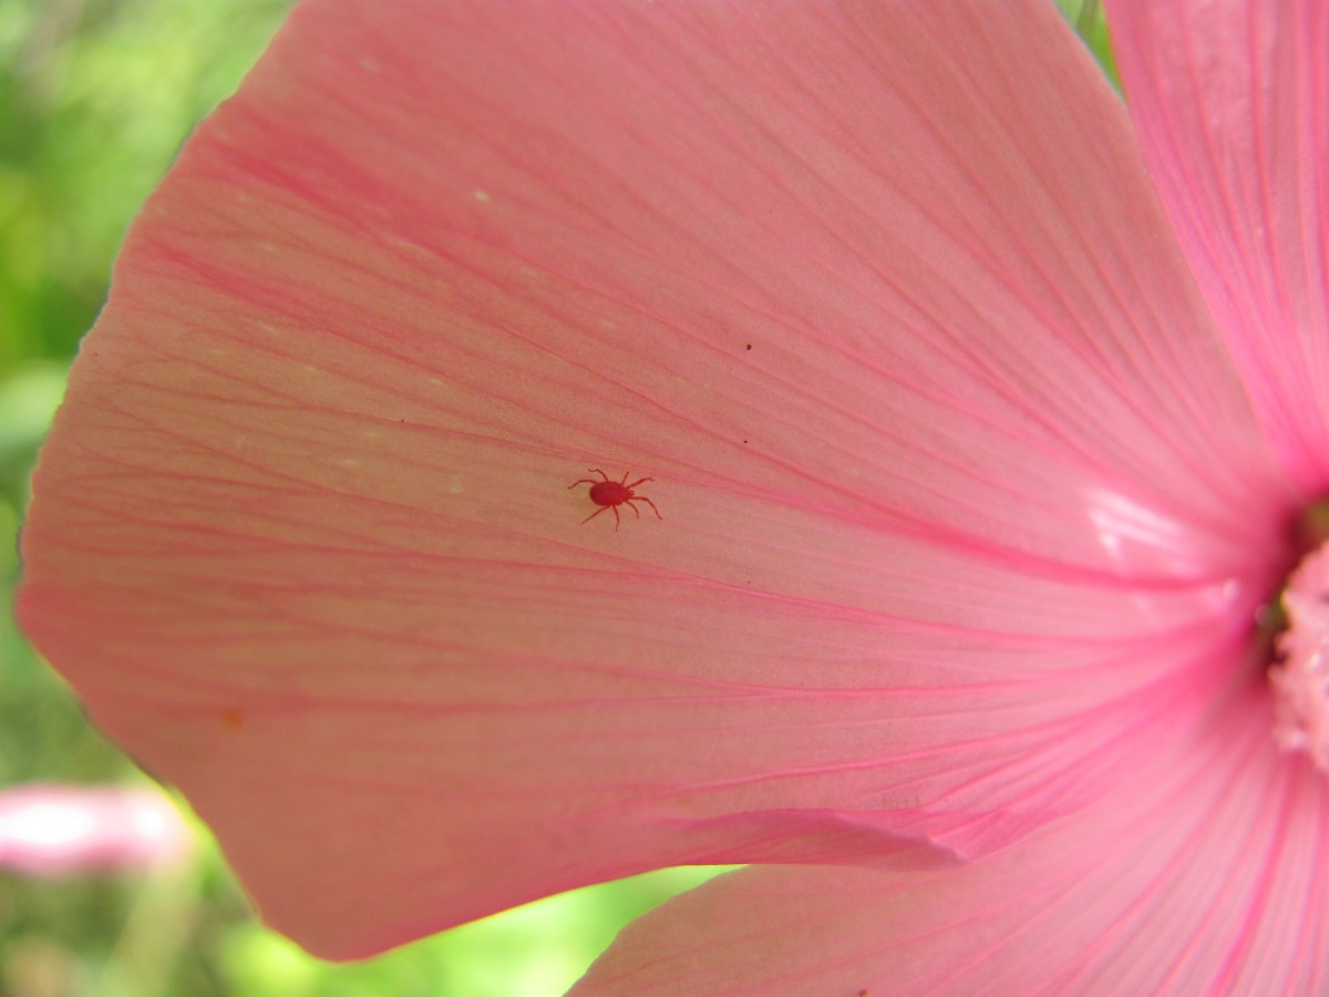
[[[1112,0],[1122,82],[1273,445],[1329,489],[1329,5]]]

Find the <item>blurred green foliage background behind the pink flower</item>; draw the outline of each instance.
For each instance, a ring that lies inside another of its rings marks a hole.
[[[138,205],[291,0],[0,0],[0,602],[28,473]],[[389,3],[391,0],[384,0]],[[1062,1],[1106,58],[1096,9]],[[999,0],[993,9],[999,11]],[[142,779],[0,613],[0,787]],[[3,997],[561,993],[622,924],[706,877],[541,901],[355,965],[264,931],[217,856],[120,879],[0,872]]]

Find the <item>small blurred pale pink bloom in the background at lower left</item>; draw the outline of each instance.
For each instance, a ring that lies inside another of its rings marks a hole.
[[[140,786],[33,783],[0,790],[0,868],[29,876],[138,872],[193,848],[179,812]]]

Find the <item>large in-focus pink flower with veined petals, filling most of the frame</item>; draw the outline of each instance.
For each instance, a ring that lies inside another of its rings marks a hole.
[[[126,242],[27,631],[318,953],[758,863],[585,988],[1322,989],[1255,621],[1329,13],[1110,17],[1134,130],[1045,0],[304,4]]]

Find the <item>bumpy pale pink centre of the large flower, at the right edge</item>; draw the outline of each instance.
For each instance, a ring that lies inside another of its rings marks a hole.
[[[1282,590],[1286,623],[1275,638],[1269,669],[1273,736],[1285,751],[1304,751],[1329,774],[1329,542],[1306,554]]]

